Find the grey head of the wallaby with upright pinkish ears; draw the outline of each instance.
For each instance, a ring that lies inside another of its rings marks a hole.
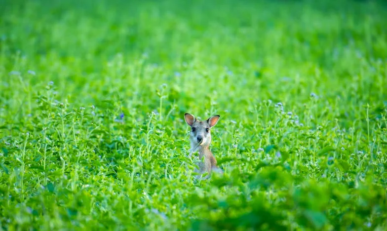
[[[192,152],[196,151],[199,146],[208,147],[211,144],[211,127],[215,126],[220,116],[211,116],[207,120],[198,120],[195,116],[186,113],[184,115],[186,122],[191,126],[191,148]]]

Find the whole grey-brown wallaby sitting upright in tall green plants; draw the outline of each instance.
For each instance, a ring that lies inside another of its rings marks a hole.
[[[199,159],[204,156],[204,163],[199,163],[200,174],[208,172],[208,177],[211,171],[218,171],[223,173],[222,169],[216,166],[216,159],[210,151],[211,144],[211,127],[215,126],[220,116],[211,116],[207,120],[197,120],[195,116],[186,113],[184,115],[186,122],[191,126],[190,141],[191,141],[191,154],[199,152]]]

